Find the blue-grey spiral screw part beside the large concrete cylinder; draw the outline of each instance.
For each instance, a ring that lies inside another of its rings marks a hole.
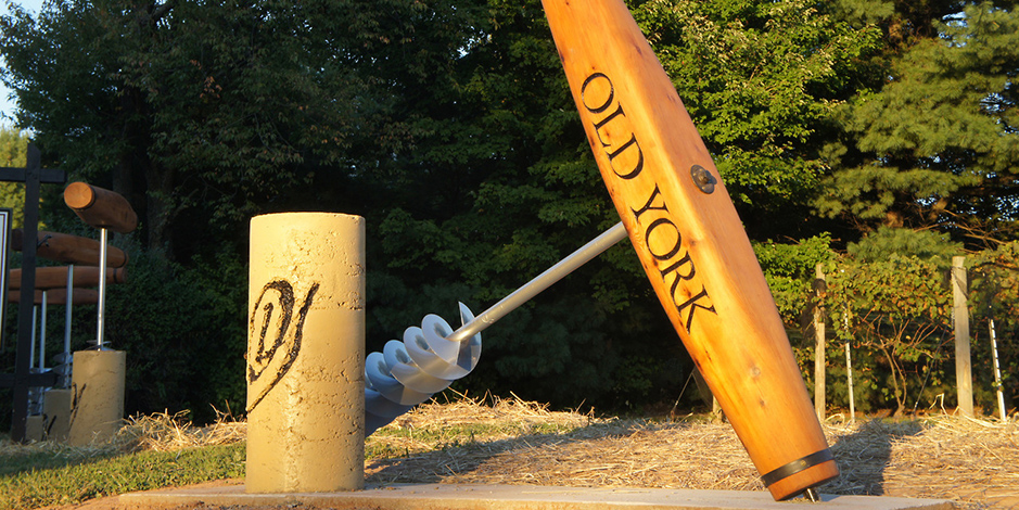
[[[460,322],[474,320],[460,303]],[[385,426],[413,406],[449,387],[474,370],[481,357],[481,333],[463,342],[446,340],[454,330],[442,317],[430,314],[421,327],[404,331],[404,340],[391,340],[382,353],[365,359],[365,436]]]

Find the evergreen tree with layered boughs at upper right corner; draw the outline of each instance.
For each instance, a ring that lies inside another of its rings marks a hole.
[[[850,135],[815,205],[861,229],[1015,235],[1019,14],[981,3],[912,46],[842,112]],[[971,239],[972,241],[972,239]]]

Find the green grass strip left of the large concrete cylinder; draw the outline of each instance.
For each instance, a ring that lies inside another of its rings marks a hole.
[[[178,451],[72,450],[0,455],[0,509],[72,505],[87,499],[244,476],[244,443]]]

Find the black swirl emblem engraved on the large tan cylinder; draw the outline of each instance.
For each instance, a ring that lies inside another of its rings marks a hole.
[[[247,323],[250,336],[258,333],[257,341],[250,343],[247,352],[247,391],[255,397],[249,397],[247,412],[279,384],[297,359],[304,335],[304,320],[311,309],[318,288],[318,283],[311,284],[296,318],[294,286],[286,280],[266,283],[255,299]]]

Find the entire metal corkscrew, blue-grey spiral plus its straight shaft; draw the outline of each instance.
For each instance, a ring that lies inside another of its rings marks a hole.
[[[471,373],[481,358],[482,330],[624,238],[623,224],[616,224],[476,318],[460,303],[463,326],[456,331],[430,314],[420,328],[407,328],[403,341],[391,340],[381,353],[369,354],[365,359],[365,436]]]

